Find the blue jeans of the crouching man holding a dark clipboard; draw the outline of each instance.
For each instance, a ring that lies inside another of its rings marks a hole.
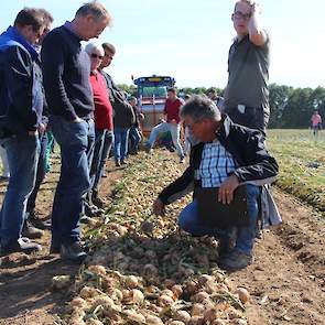
[[[247,205],[249,212],[249,225],[247,227],[237,228],[237,239],[235,249],[250,254],[252,252],[256,238],[256,226],[259,214],[260,187],[254,185],[246,185]],[[210,228],[201,224],[198,216],[197,201],[194,199],[181,213],[178,218],[180,227],[194,236],[216,236],[221,240],[229,240],[234,234],[234,227],[227,229]]]

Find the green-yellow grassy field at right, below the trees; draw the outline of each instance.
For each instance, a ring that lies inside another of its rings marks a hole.
[[[325,130],[269,130],[268,148],[280,165],[277,185],[325,212]]]

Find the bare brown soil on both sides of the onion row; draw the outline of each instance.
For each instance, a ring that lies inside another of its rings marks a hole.
[[[51,212],[58,176],[58,158],[37,199],[42,218]],[[110,163],[102,180],[101,195],[109,198],[113,183],[122,176]],[[7,184],[1,184],[3,195]],[[283,224],[264,231],[254,251],[254,263],[229,275],[247,288],[251,302],[249,324],[325,324],[325,221],[292,196],[275,191]],[[0,324],[61,324],[68,292],[51,291],[57,274],[77,274],[78,267],[48,257],[50,232],[39,240],[43,251],[34,256],[12,254],[0,260]]]

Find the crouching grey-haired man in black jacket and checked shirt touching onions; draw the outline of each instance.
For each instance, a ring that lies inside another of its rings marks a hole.
[[[165,205],[194,188],[193,202],[181,213],[181,228],[195,236],[218,237],[220,267],[246,268],[252,259],[260,186],[274,180],[278,164],[266,150],[261,132],[232,123],[212,100],[196,96],[184,105],[181,116],[199,143],[192,149],[187,170],[161,192],[153,210],[156,215],[164,214]],[[237,204],[236,195],[242,189],[242,202],[247,203],[231,209]],[[215,198],[199,195],[212,192]],[[219,202],[219,209],[207,210],[204,205],[214,206],[214,199]],[[246,223],[236,215],[223,215],[225,205],[230,207],[229,212],[242,214]],[[231,247],[234,230],[237,238]]]

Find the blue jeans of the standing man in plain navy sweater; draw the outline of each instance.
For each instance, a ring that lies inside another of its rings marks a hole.
[[[89,191],[89,161],[95,138],[94,120],[68,122],[51,116],[50,126],[61,148],[61,175],[52,209],[52,245],[79,240],[79,217]],[[91,140],[93,139],[93,140]]]

